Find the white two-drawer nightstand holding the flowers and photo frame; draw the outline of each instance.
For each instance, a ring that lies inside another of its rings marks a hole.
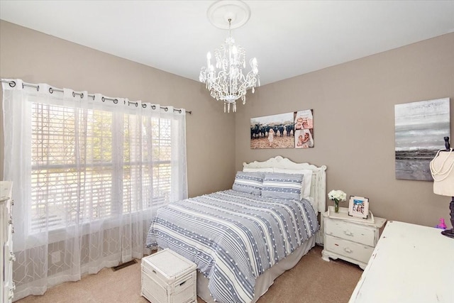
[[[339,207],[336,213],[334,206],[329,206],[328,211],[323,213],[323,221],[323,260],[341,258],[364,270],[386,219],[374,217],[371,212],[367,219],[356,218],[348,216],[348,208]]]

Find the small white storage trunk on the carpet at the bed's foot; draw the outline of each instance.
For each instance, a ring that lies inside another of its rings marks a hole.
[[[152,303],[197,302],[196,265],[169,248],[142,258],[142,295]]]

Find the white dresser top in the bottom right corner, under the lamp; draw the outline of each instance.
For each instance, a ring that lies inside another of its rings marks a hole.
[[[389,221],[349,302],[452,303],[453,278],[453,238]]]

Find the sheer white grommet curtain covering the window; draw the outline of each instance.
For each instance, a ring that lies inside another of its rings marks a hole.
[[[184,109],[4,80],[15,298],[141,258],[156,207],[187,198]]]

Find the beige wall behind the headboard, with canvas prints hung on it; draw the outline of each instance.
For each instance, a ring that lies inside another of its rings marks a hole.
[[[328,191],[368,197],[375,216],[448,224],[450,198],[432,182],[394,177],[394,104],[443,97],[454,136],[454,33],[265,85],[236,114],[236,169],[275,155],[327,165]],[[314,109],[314,148],[250,149],[250,118],[302,109]]]

